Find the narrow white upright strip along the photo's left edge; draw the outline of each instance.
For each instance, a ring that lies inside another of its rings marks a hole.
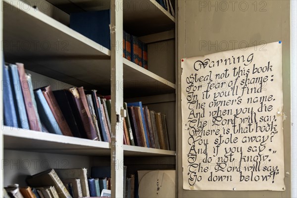
[[[1,90],[0,90],[0,162],[2,164],[3,162],[3,124],[4,124],[4,118],[3,118],[3,89],[2,89],[2,60],[3,60],[3,1],[0,0],[0,41],[1,41],[1,51],[0,51],[0,82],[1,82]],[[4,181],[3,181],[3,169],[0,168],[0,198],[3,197],[3,189],[4,189]]]

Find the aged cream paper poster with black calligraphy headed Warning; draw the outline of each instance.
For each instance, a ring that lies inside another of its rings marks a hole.
[[[181,61],[184,189],[284,191],[282,44]]]

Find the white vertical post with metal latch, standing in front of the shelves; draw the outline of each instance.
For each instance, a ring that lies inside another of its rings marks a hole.
[[[111,0],[111,197],[123,197],[123,0]]]

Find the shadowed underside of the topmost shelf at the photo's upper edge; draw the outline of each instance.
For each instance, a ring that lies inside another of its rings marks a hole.
[[[109,0],[48,1],[68,14],[110,9]],[[123,9],[124,30],[135,36],[164,32],[175,27],[175,18],[156,0],[123,0],[117,6]]]

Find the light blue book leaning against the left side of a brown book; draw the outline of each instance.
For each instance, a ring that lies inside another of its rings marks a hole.
[[[61,129],[55,120],[47,100],[45,99],[41,89],[34,90],[35,100],[37,103],[39,117],[42,123],[46,126],[49,133],[62,135]]]

